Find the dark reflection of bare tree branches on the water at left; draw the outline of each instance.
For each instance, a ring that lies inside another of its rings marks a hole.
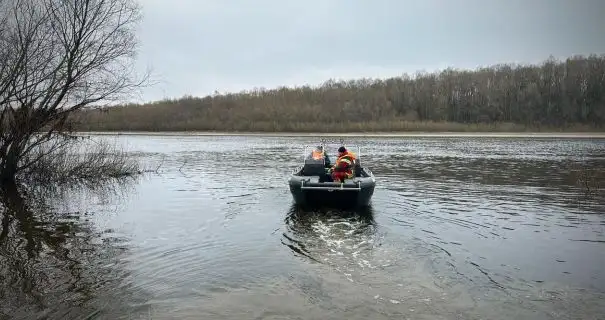
[[[67,192],[77,197],[78,190]],[[135,300],[113,295],[125,276],[115,259],[127,251],[126,240],[97,229],[88,212],[53,207],[60,193],[11,186],[0,193],[0,319],[123,314]]]

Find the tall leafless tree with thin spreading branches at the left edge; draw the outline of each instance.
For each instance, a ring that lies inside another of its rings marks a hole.
[[[64,145],[73,112],[143,85],[140,18],[134,0],[0,0],[0,182]]]

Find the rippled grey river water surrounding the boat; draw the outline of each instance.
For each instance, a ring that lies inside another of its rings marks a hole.
[[[93,138],[157,172],[5,201],[0,319],[605,315],[605,197],[570,174],[605,139],[346,137],[377,186],[345,212],[293,205],[313,137]]]

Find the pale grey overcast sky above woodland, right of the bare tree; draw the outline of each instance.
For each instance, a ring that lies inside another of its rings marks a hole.
[[[144,101],[605,53],[605,0],[140,0]]]

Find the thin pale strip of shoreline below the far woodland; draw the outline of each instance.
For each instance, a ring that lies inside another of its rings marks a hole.
[[[266,136],[266,137],[500,137],[500,138],[605,138],[605,132],[217,132],[217,131],[92,131],[78,135],[153,136]]]

